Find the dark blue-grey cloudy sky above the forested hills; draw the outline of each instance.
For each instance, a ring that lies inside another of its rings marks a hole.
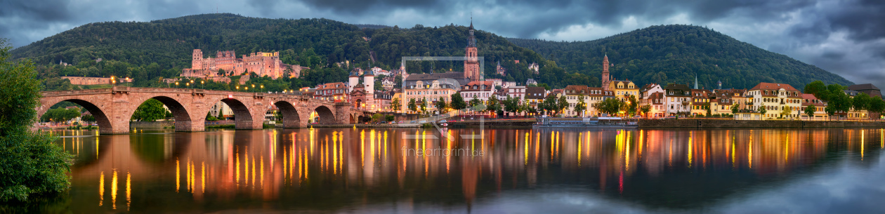
[[[230,12],[412,27],[469,24],[507,37],[586,41],[662,24],[711,27],[743,42],[885,87],[882,0],[4,0],[0,37],[15,47],[99,21]]]

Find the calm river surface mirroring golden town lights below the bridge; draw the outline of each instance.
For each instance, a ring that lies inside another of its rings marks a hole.
[[[64,136],[58,144],[76,155],[70,191],[19,209],[885,211],[882,129],[448,129],[441,134],[302,128],[58,135]],[[419,150],[431,154],[419,156]]]

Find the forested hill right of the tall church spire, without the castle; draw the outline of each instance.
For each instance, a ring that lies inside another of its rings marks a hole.
[[[853,84],[834,73],[796,59],[740,42],[705,27],[669,25],[638,29],[587,42],[508,39],[535,50],[569,73],[598,76],[608,54],[612,75],[637,83],[690,83],[704,88],[752,88],[758,82],[797,88],[814,80]]]

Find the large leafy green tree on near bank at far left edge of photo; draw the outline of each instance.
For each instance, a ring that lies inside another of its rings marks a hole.
[[[0,202],[57,194],[70,186],[72,156],[47,132],[33,132],[40,80],[30,60],[13,61],[0,39]]]

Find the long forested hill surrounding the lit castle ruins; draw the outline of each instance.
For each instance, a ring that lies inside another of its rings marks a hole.
[[[465,22],[463,24],[469,24]],[[13,57],[35,61],[42,78],[56,76],[134,77],[157,80],[173,77],[190,67],[192,50],[204,56],[217,50],[235,50],[243,55],[256,51],[280,51],[283,63],[311,67],[304,79],[310,84],[345,81],[350,68],[380,66],[399,68],[404,56],[464,56],[467,27],[411,28],[350,25],[330,19],[262,19],[235,14],[202,14],[150,22],[101,22],[75,27],[41,41],[12,50]],[[559,80],[564,70],[532,50],[520,48],[506,38],[477,30],[479,54],[485,57],[487,77],[525,82],[592,84],[590,77],[574,75]],[[375,61],[370,57],[375,56]],[[102,58],[102,62],[97,62]],[[519,64],[515,63],[519,60]],[[59,61],[74,66],[58,66]],[[337,62],[350,67],[337,68]],[[501,61],[509,74],[494,75]],[[540,74],[528,73],[527,64],[544,66]],[[463,71],[459,61],[412,62],[410,73]],[[598,80],[596,79],[596,84]],[[295,87],[295,86],[293,86]]]

